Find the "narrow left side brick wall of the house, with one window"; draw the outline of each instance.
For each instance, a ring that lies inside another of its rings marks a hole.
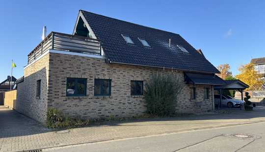
[[[24,82],[17,88],[17,111],[41,122],[46,123],[48,80],[49,80],[49,54],[24,69]],[[36,97],[37,80],[41,80],[41,95]]]

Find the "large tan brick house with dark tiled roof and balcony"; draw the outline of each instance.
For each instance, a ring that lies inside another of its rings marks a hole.
[[[153,74],[185,83],[177,112],[212,110],[213,86],[226,85],[216,73],[179,34],[80,10],[72,35],[51,32],[28,54],[17,110],[42,123],[48,108],[86,119],[132,117],[146,111]]]

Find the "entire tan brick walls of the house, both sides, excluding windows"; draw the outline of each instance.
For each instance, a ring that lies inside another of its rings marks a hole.
[[[142,96],[131,96],[131,80],[149,81],[152,74],[174,73],[184,82],[184,73],[143,66],[107,64],[105,59],[61,53],[48,53],[28,66],[24,82],[18,85],[19,110],[45,123],[47,107],[54,107],[64,114],[79,118],[131,117],[146,111]],[[66,78],[87,78],[87,96],[66,96]],[[111,79],[111,96],[94,96],[94,79]],[[36,99],[36,81],[41,79],[41,99]],[[191,85],[185,84],[179,95],[176,111],[195,113],[212,110],[212,86],[196,86],[197,98],[190,100]],[[210,99],[204,100],[204,88],[208,87]],[[201,101],[202,105],[196,105]],[[23,103],[22,103],[23,102]]]

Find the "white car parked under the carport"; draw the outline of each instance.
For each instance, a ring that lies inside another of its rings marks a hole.
[[[218,105],[220,102],[220,95],[214,95],[214,104],[215,106]],[[244,101],[232,98],[228,95],[222,95],[222,106],[228,106],[228,107],[238,107],[241,103],[244,103]]]

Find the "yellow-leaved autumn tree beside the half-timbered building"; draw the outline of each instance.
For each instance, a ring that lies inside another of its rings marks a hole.
[[[240,66],[238,68],[238,71],[240,72],[240,74],[238,74],[236,78],[249,85],[249,88],[247,90],[253,88],[254,86],[261,86],[263,84],[261,75],[259,75],[257,71],[255,71],[252,63]]]

